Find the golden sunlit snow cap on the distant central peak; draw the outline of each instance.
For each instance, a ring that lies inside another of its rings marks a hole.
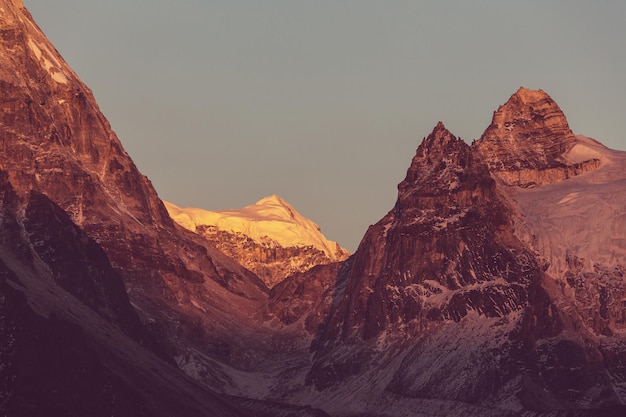
[[[277,195],[265,197],[241,209],[219,211],[164,203],[172,219],[192,231],[200,226],[214,226],[219,230],[244,234],[256,242],[271,239],[283,247],[313,246],[332,260],[344,259],[347,253],[336,242],[326,239],[317,224]]]

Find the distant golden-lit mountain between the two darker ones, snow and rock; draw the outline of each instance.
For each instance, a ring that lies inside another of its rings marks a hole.
[[[293,273],[350,255],[277,195],[240,210],[180,208],[168,202],[165,207],[174,221],[203,236],[270,288]]]

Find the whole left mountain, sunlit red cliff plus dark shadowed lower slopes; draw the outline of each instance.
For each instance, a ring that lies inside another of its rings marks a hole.
[[[181,371],[271,351],[269,289],[171,220],[19,0],[0,0],[0,62],[2,414],[323,415]]]

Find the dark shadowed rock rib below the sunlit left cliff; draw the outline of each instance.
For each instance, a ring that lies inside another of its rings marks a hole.
[[[60,287],[139,338],[139,317],[102,248],[46,196],[31,191],[22,202],[4,171],[0,171],[0,195],[0,242],[11,256],[26,262],[36,257]]]

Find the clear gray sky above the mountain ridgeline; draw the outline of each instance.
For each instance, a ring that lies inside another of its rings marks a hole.
[[[278,194],[354,251],[437,121],[521,85],[626,149],[626,1],[24,0],[180,206]]]

